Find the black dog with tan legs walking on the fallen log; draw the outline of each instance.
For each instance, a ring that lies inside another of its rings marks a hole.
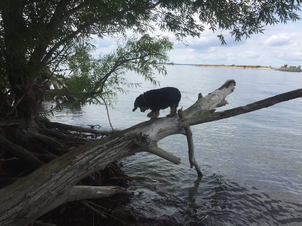
[[[158,118],[160,109],[170,107],[170,114],[166,117],[174,117],[181,97],[179,90],[174,87],[151,89],[135,99],[132,111],[137,108],[140,108],[141,112],[151,109],[147,117]]]

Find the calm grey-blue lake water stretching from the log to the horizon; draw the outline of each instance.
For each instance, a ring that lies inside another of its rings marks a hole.
[[[302,73],[271,70],[167,66],[168,75],[156,76],[161,87],[182,93],[186,109],[198,97],[236,81],[222,111],[302,88]],[[132,112],[135,98],[152,89],[144,79],[128,95],[118,95],[109,111],[114,128],[125,129],[149,120],[148,112]],[[49,108],[51,103],[46,103]],[[169,109],[161,110],[164,117]],[[51,121],[110,129],[104,106],[78,107],[50,117]],[[126,174],[146,176],[133,182],[132,202],[126,206],[146,218],[165,218],[175,225],[302,225],[302,98],[282,102],[244,115],[191,127],[195,159],[204,176],[190,169],[184,135],[159,141],[159,147],[181,157],[174,165],[158,156],[139,153],[122,159]],[[141,192],[141,194],[140,194]]]

